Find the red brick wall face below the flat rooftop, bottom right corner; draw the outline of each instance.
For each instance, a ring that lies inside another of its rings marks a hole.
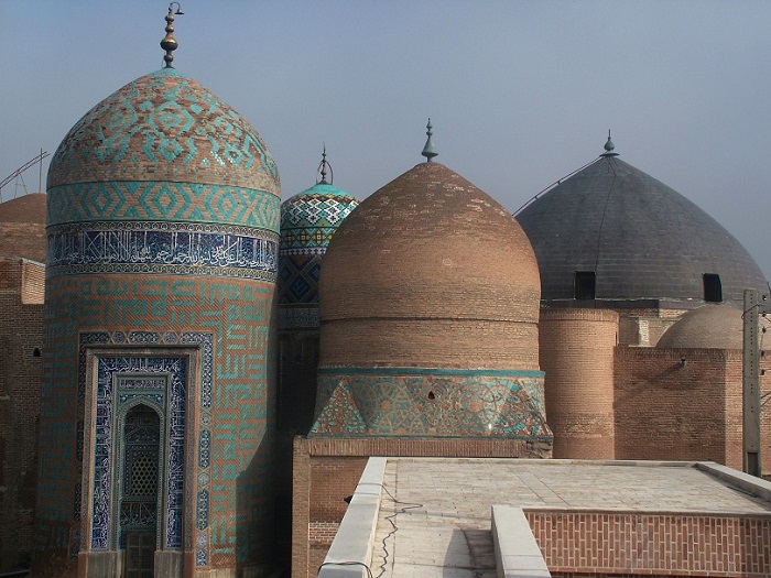
[[[552,576],[769,576],[771,515],[525,511]]]

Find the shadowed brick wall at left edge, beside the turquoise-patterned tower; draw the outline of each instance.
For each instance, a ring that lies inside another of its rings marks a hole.
[[[44,266],[0,258],[0,571],[32,553]]]

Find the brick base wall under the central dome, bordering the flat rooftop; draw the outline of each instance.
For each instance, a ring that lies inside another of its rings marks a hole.
[[[312,578],[324,561],[370,456],[547,458],[551,446],[519,439],[295,437],[292,578]]]

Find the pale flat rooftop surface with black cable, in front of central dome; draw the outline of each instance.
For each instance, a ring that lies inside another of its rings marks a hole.
[[[606,513],[771,513],[769,482],[715,464],[388,458],[382,487],[371,543],[374,577],[493,578],[493,504]]]

